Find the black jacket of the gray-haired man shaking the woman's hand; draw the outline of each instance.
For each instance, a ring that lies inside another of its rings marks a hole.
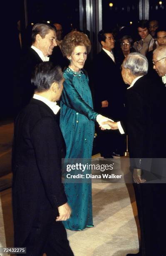
[[[166,157],[166,88],[139,78],[126,92],[126,128],[131,158]]]

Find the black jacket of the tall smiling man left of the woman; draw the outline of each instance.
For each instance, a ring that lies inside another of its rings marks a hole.
[[[34,87],[31,84],[32,70],[42,62],[40,56],[31,47],[22,51],[14,72],[14,107],[17,112],[30,102],[34,93]]]

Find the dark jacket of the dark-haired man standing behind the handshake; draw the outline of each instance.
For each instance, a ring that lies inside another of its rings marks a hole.
[[[94,58],[93,66],[95,109],[103,115],[118,120],[124,111],[124,93],[126,90],[119,65],[115,64],[102,49]],[[109,102],[108,108],[101,108],[101,102],[104,100]]]

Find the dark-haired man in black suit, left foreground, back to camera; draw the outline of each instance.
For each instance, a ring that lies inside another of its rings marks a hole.
[[[63,90],[60,67],[35,67],[35,94],[15,120],[12,151],[12,202],[16,247],[27,256],[73,256],[62,220],[71,209],[61,180],[65,143],[56,121]]]

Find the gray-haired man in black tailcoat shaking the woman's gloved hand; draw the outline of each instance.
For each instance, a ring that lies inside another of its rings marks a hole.
[[[156,55],[154,64],[157,64],[155,61],[160,61]],[[156,70],[159,72],[158,67]],[[124,59],[121,74],[124,82],[130,85],[126,93],[126,120],[104,124],[109,124],[113,130],[119,128],[121,133],[126,130],[129,136],[141,229],[141,244],[136,255],[165,256],[166,184],[160,184],[164,165],[156,159],[166,157],[166,120],[163,115],[166,113],[166,90],[160,81],[149,79],[147,71],[148,61],[144,55],[131,53]]]

